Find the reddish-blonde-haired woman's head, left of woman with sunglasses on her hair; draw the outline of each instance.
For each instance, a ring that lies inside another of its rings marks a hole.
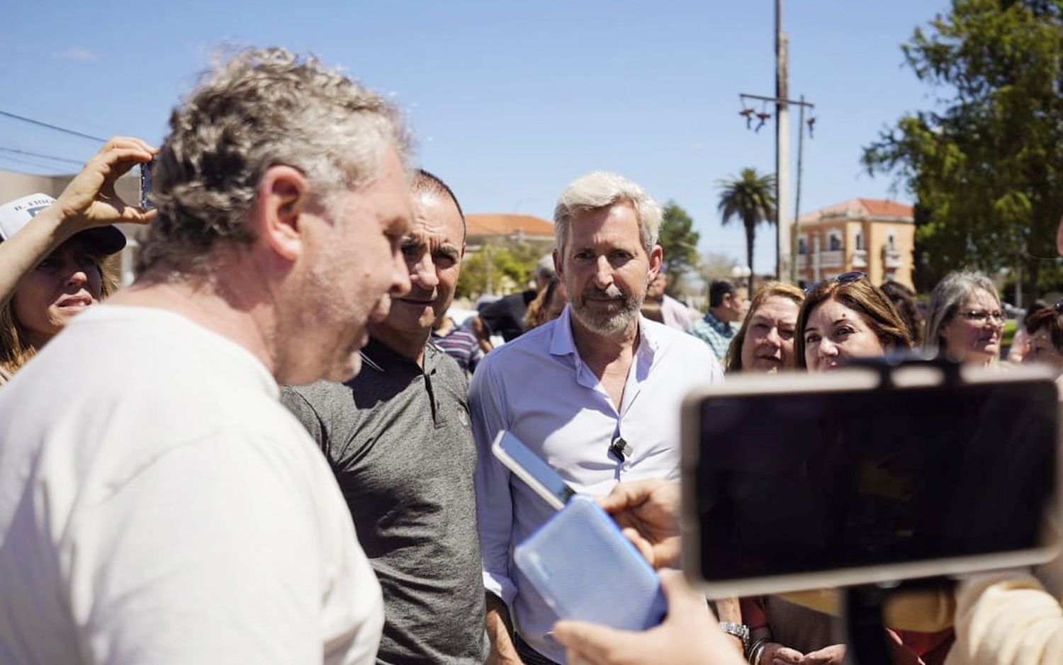
[[[735,334],[724,369],[775,374],[796,366],[794,330],[805,293],[781,282],[761,285],[749,301],[749,313]]]

